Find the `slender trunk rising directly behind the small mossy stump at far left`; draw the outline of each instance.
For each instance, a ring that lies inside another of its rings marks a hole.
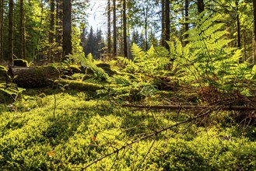
[[[19,2],[19,58],[26,59],[26,38],[25,38],[25,17],[24,17],[24,1]]]

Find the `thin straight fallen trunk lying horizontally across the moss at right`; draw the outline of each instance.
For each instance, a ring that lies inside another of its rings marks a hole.
[[[256,107],[250,106],[175,106],[175,105],[135,105],[135,104],[121,104],[124,107],[135,107],[139,109],[149,109],[149,110],[204,110],[204,109],[220,109],[220,110],[242,110],[242,111],[252,111],[256,110]]]

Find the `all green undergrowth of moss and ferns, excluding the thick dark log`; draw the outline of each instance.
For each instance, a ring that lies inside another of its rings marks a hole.
[[[199,18],[186,46],[72,54],[44,88],[1,82],[0,169],[255,170],[256,67],[219,16]]]

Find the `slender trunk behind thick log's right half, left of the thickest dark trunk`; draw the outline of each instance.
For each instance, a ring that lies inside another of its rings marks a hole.
[[[55,11],[55,3],[54,0],[50,1],[50,6],[51,6],[51,14],[50,14],[50,30],[49,30],[49,55],[50,55],[50,61],[53,62],[53,47],[52,45],[54,44],[54,11]]]

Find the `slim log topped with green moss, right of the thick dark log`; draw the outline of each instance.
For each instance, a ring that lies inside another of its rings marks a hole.
[[[74,80],[66,80],[66,79],[56,79],[54,81],[55,85],[65,86],[68,89],[75,89],[81,91],[91,91],[96,92],[98,89],[103,89],[103,86],[91,82],[81,82]]]

